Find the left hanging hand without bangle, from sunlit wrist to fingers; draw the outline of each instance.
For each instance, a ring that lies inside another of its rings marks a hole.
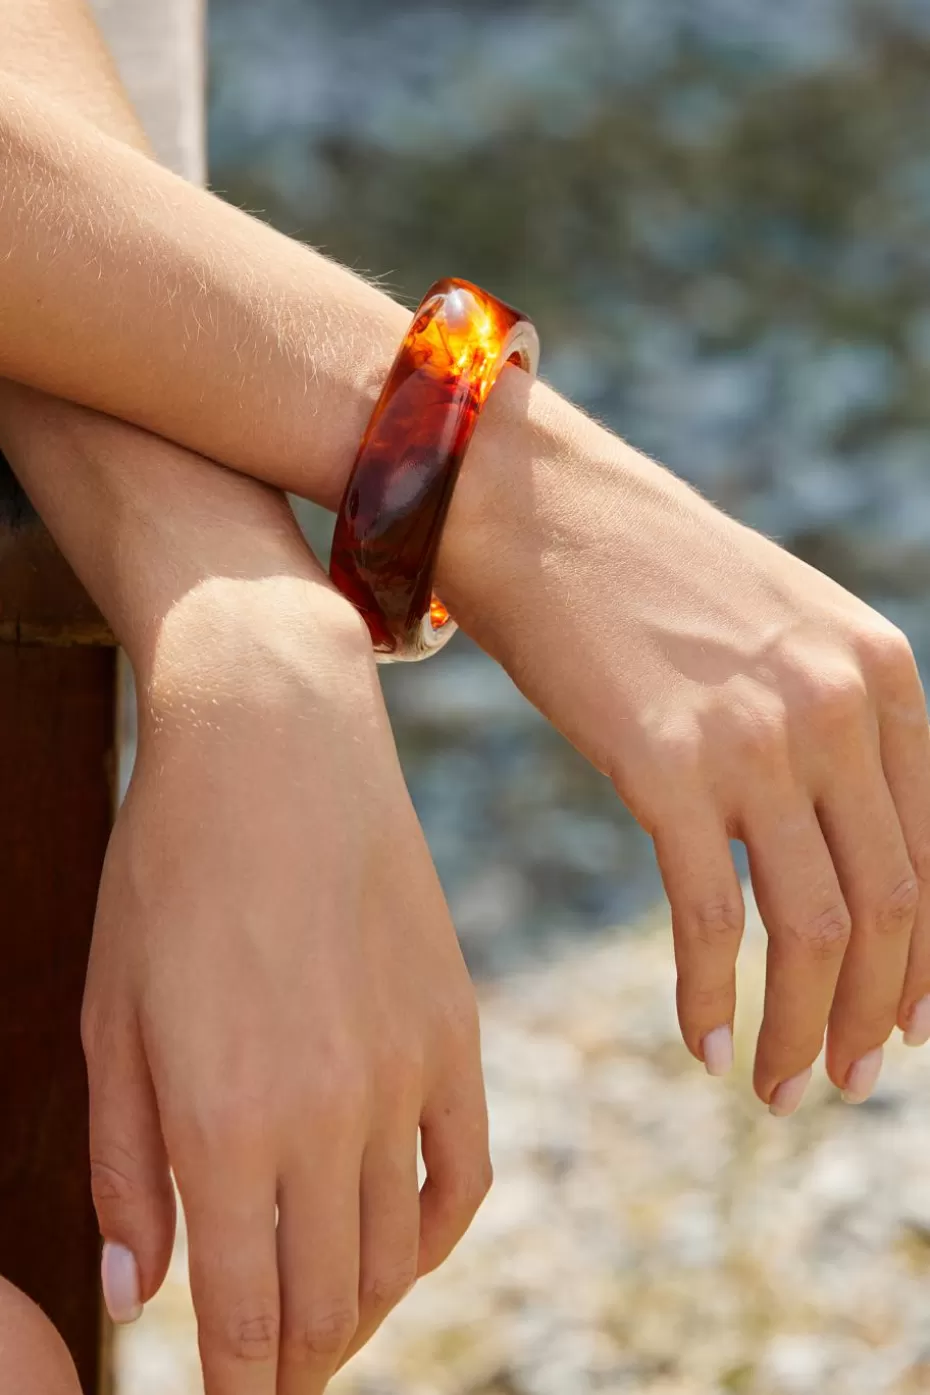
[[[322,576],[185,590],[139,677],[84,1014],[107,1296],[163,1279],[170,1163],[208,1395],[314,1395],[485,1194],[474,995]]]

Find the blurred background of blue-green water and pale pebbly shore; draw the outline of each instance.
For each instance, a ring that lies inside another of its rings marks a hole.
[[[411,306],[455,273],[528,311],[554,384],[926,674],[930,0],[211,0],[209,25],[215,188]],[[383,679],[482,978],[498,1184],[344,1395],[930,1392],[930,1062],[897,1043],[869,1105],[818,1076],[771,1120],[754,923],[738,1070],[706,1080],[607,781],[462,636]],[[125,1395],[201,1389],[183,1244],[120,1350]]]

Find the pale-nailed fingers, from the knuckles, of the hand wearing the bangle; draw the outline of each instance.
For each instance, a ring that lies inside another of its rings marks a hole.
[[[873,615],[839,649],[824,636],[785,658],[704,695],[697,735],[664,739],[671,819],[654,817],[655,791],[640,801],[672,904],[682,1032],[712,1074],[732,1059],[742,925],[724,830],[747,847],[770,933],[756,1089],[775,1113],[800,1102],[824,1032],[852,1102],[895,1023],[930,1041],[930,727],[913,654]]]

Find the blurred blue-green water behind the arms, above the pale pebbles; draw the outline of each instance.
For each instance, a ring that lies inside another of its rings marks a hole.
[[[455,273],[528,311],[558,388],[927,664],[927,0],[209,15],[215,188],[410,304]],[[655,897],[607,783],[463,638],[385,688],[473,965]]]

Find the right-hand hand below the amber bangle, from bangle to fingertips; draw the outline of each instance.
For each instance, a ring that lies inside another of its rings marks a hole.
[[[505,399],[526,393],[508,377]],[[544,386],[517,423],[510,403],[478,427],[441,596],[655,840],[692,1053],[717,1074],[732,1050],[739,838],[770,935],[756,1089],[796,1108],[827,1030],[830,1078],[863,1099],[895,1023],[930,1036],[930,738],[906,640]]]

